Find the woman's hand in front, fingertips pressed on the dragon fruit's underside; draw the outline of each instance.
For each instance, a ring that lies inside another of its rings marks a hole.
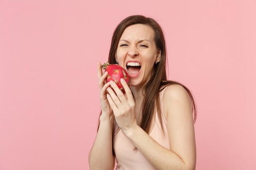
[[[137,126],[137,120],[132,91],[124,79],[121,79],[121,84],[124,87],[125,93],[120,91],[115,82],[110,81],[110,86],[113,89],[108,87],[109,94],[107,94],[107,99],[115,115],[117,125],[126,135],[126,132]]]

